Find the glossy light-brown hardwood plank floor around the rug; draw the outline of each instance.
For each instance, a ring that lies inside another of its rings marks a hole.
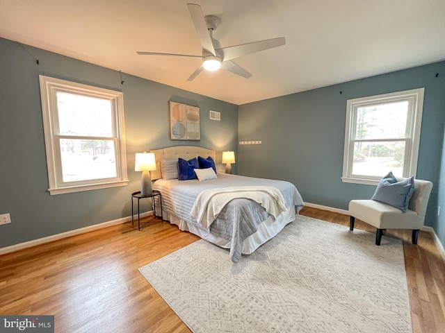
[[[346,215],[301,214],[349,225]],[[409,230],[386,235],[403,239],[413,332],[445,332],[445,261],[431,235],[417,246]],[[54,315],[55,332],[191,332],[138,268],[197,239],[170,223],[129,222],[1,255],[0,314]]]

